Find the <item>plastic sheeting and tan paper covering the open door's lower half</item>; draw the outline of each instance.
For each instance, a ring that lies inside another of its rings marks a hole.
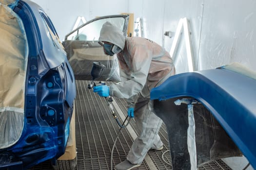
[[[73,69],[76,79],[92,80],[91,70],[93,62],[100,62],[106,67],[98,80],[114,82],[121,81],[118,58],[116,55],[107,56],[104,54],[101,46],[86,48],[86,46],[82,46],[81,43],[81,41],[66,41],[64,43],[65,50],[68,55],[68,61]],[[86,42],[85,44],[88,44],[89,47],[91,46],[89,42]]]

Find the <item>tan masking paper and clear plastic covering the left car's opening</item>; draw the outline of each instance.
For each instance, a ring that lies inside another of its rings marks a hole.
[[[7,1],[3,0],[6,4]],[[28,45],[20,17],[0,3],[0,149],[15,144],[24,123]]]

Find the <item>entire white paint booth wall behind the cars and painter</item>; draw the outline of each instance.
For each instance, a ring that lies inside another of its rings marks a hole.
[[[180,18],[190,24],[195,70],[239,62],[256,71],[255,0],[33,0],[51,17],[61,40],[77,18],[134,13],[142,18],[144,37],[170,51]],[[164,36],[170,31],[173,37]],[[188,71],[183,33],[174,58],[177,72]]]

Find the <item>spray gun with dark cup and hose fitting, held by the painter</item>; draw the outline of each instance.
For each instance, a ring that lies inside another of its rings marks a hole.
[[[93,62],[93,68],[91,70],[91,75],[93,77],[93,80],[91,81],[91,83],[88,85],[88,88],[91,89],[93,88],[94,86],[97,86],[97,85],[106,85],[104,82],[101,82],[99,81],[98,83],[95,82],[96,79],[98,79],[99,77],[101,77],[102,73],[103,73],[103,70],[104,70],[105,66],[99,62]],[[112,97],[105,97],[106,99],[106,102],[107,102],[107,105],[108,107],[110,108],[111,110],[111,113],[114,117],[114,119],[116,119],[118,125],[122,128],[126,127],[128,124],[129,124],[129,121],[126,125],[124,125],[124,123],[120,123],[120,121],[118,120],[118,117],[116,116],[115,114],[115,111],[114,111],[114,106],[112,104],[113,102],[113,99]],[[126,117],[127,119],[128,117]],[[126,121],[126,119],[124,120],[124,122]]]

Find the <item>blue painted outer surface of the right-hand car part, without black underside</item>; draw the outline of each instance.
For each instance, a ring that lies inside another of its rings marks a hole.
[[[208,108],[256,168],[256,80],[211,69],[174,75],[151,90],[151,100],[190,96]]]

